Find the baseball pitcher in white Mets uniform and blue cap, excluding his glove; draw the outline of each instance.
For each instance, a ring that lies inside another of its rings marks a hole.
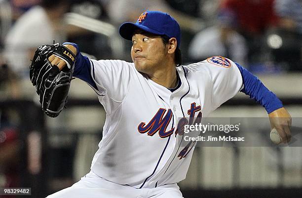
[[[107,116],[91,171],[47,198],[182,198],[177,183],[186,178],[195,142],[181,146],[179,118],[206,117],[239,91],[269,118],[284,117],[270,124],[290,141],[289,113],[245,68],[220,56],[182,65],[180,27],[169,14],[146,11],[119,33],[132,41],[133,63],[88,59],[64,43],[76,55],[74,76],[94,89]],[[66,66],[57,56],[49,61]]]

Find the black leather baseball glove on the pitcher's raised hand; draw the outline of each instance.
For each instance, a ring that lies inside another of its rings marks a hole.
[[[48,61],[57,56],[67,64],[61,71]],[[67,102],[70,83],[73,77],[75,55],[65,46],[56,43],[41,45],[35,52],[30,65],[30,78],[40,97],[42,110],[50,117],[57,117]]]

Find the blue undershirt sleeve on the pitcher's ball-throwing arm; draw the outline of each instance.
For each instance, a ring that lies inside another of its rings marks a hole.
[[[277,96],[269,91],[257,76],[254,76],[247,69],[235,63],[239,68],[244,88],[240,91],[255,99],[264,106],[267,113],[271,113],[276,109],[283,107],[282,102]]]

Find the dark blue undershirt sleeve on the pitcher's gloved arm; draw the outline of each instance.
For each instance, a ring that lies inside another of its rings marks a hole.
[[[91,66],[90,66],[89,59],[80,53],[78,45],[76,43],[71,43],[71,42],[63,43],[63,45],[65,44],[70,44],[76,47],[76,61],[75,61],[75,69],[74,69],[73,76],[85,81],[90,86],[98,90],[91,76]]]

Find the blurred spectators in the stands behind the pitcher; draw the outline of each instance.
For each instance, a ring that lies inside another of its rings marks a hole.
[[[20,83],[42,44],[70,41],[96,59],[131,61],[118,27],[146,10],[177,19],[184,64],[225,56],[256,74],[302,71],[302,0],[0,0],[0,98],[22,98]],[[17,132],[1,115],[0,173],[14,178],[5,165],[16,153],[5,149],[18,147]],[[9,182],[16,179],[0,177],[0,186]]]

